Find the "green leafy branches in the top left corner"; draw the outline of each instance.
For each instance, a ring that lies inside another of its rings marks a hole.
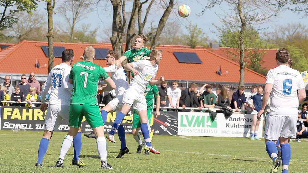
[[[36,0],[0,0],[0,7],[3,9],[0,13],[0,30],[11,28],[18,18],[15,15],[20,11],[26,11],[32,14],[32,11],[37,8]]]

